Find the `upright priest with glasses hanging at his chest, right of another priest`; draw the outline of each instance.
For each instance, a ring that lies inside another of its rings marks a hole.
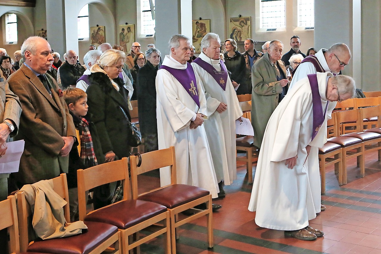
[[[221,40],[208,33],[201,40],[202,53],[191,65],[200,76],[205,91],[209,118],[204,121],[219,186],[218,196],[225,197],[223,183],[237,179],[235,159],[235,120],[242,116],[237,95],[219,58]]]

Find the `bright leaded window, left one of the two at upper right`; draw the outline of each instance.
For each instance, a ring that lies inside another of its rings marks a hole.
[[[285,27],[285,0],[261,1],[261,28]]]

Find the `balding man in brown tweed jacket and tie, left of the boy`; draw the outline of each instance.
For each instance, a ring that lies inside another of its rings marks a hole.
[[[18,173],[11,177],[24,184],[67,173],[75,127],[63,93],[53,78],[45,75],[53,64],[49,43],[29,37],[21,47],[24,64],[8,79],[10,89],[22,105],[16,140],[25,140]]]

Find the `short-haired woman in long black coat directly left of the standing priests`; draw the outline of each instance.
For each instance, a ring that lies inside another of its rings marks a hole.
[[[139,127],[144,138],[145,152],[158,150],[156,121],[155,79],[159,69],[160,51],[150,48],[146,51],[147,63],[138,72]]]

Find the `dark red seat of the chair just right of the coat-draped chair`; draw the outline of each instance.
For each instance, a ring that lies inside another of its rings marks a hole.
[[[85,217],[85,222],[96,221],[126,229],[158,214],[166,212],[161,204],[142,200],[123,200],[99,210]],[[123,216],[121,216],[123,214]]]

